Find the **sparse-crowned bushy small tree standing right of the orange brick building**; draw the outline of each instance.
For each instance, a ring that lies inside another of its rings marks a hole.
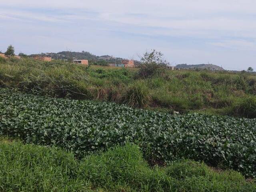
[[[141,58],[140,70],[138,72],[140,77],[147,78],[163,72],[169,62],[163,59],[164,54],[152,50],[146,52]]]

